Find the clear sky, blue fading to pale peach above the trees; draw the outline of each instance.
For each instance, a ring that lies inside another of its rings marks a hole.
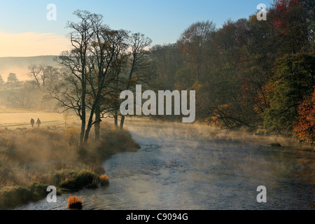
[[[67,21],[77,21],[73,11],[102,14],[112,29],[140,32],[152,45],[175,43],[197,21],[213,21],[221,28],[228,19],[248,18],[259,3],[272,0],[0,0],[0,57],[59,55],[69,50]],[[48,20],[56,6],[56,20]]]

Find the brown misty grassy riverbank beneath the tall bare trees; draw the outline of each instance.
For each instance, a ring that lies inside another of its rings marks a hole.
[[[0,129],[0,209],[39,200],[47,186],[57,193],[101,186],[102,161],[139,149],[129,132],[109,123],[102,130],[101,141],[79,148],[76,127]]]

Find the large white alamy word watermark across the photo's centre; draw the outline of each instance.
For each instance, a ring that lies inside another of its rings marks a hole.
[[[127,97],[127,99],[125,99]],[[172,98],[174,97],[174,106]],[[174,115],[188,116],[183,118],[183,123],[193,123],[195,121],[195,90],[189,91],[189,105],[187,102],[187,90],[159,90],[158,91],[158,111],[156,108],[157,97],[153,90],[146,90],[142,93],[141,85],[136,85],[136,115]],[[165,102],[166,98],[166,102]],[[120,113],[123,116],[134,115],[134,93],[124,90],[120,93],[120,99],[125,101],[120,104]],[[142,105],[142,99],[147,99]],[[189,106],[189,109],[188,109]]]

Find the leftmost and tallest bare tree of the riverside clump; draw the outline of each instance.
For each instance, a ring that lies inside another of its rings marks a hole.
[[[102,15],[92,14],[86,10],[76,10],[74,13],[80,22],[68,22],[67,28],[71,29],[69,34],[72,50],[64,51],[57,57],[57,62],[71,73],[71,77],[64,76],[71,87],[61,83],[50,96],[59,101],[65,109],[73,109],[81,120],[80,146],[83,145],[86,125],[86,94],[87,77],[91,75],[92,63],[90,62],[90,41],[94,35],[92,29],[94,23],[102,20]],[[64,95],[60,95],[61,93]]]

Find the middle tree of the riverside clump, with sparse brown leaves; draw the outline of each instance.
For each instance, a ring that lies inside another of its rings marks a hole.
[[[114,70],[118,69],[124,61],[124,52],[127,49],[127,31],[113,30],[107,26],[94,26],[94,39],[91,52],[94,58],[94,72],[88,78],[91,88],[90,118],[85,132],[85,144],[92,125],[95,128],[95,139],[99,140],[101,118],[108,112],[107,106],[102,106],[107,94],[110,94],[109,85],[113,82]],[[109,98],[107,98],[109,99]],[[95,119],[93,121],[93,116]]]

